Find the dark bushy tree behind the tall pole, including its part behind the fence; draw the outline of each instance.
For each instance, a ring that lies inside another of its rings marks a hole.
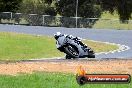
[[[83,18],[99,18],[101,16],[101,8],[96,3],[96,0],[78,0],[78,17]],[[76,0],[60,0],[56,3],[57,12],[65,17],[76,16]],[[68,19],[68,18],[67,18]],[[63,24],[75,25],[75,19],[72,21],[69,19],[62,20]],[[70,22],[71,21],[71,22]],[[97,20],[79,19],[78,27],[83,26],[83,23],[87,23],[87,27],[92,27]],[[85,27],[86,27],[85,25]],[[74,27],[74,26],[72,26]]]

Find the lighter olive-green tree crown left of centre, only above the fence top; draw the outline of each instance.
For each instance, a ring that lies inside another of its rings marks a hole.
[[[45,0],[25,0],[21,3],[20,12],[39,15],[56,15],[55,9]]]

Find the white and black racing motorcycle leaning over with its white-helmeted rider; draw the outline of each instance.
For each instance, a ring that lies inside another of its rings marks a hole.
[[[73,37],[72,35],[61,34],[57,32],[54,34],[56,39],[57,49],[66,53],[66,59],[71,58],[95,58],[94,51],[82,43],[79,37]]]

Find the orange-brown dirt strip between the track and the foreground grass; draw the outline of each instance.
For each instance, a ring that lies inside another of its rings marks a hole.
[[[66,60],[1,63],[0,74],[16,75],[34,71],[77,73],[79,66],[87,73],[132,74],[132,60]]]

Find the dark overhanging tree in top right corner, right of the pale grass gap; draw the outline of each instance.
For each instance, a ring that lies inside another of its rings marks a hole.
[[[115,10],[119,14],[121,22],[127,23],[132,14],[132,0],[100,0],[103,11],[113,13]]]

